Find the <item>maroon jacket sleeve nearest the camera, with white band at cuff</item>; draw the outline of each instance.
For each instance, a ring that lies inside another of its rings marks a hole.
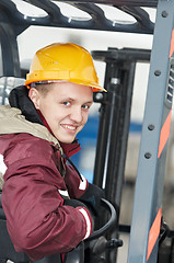
[[[2,205],[18,252],[33,261],[76,248],[91,235],[91,217],[84,207],[63,205],[63,186],[53,149],[43,140],[20,142],[4,157]]]

